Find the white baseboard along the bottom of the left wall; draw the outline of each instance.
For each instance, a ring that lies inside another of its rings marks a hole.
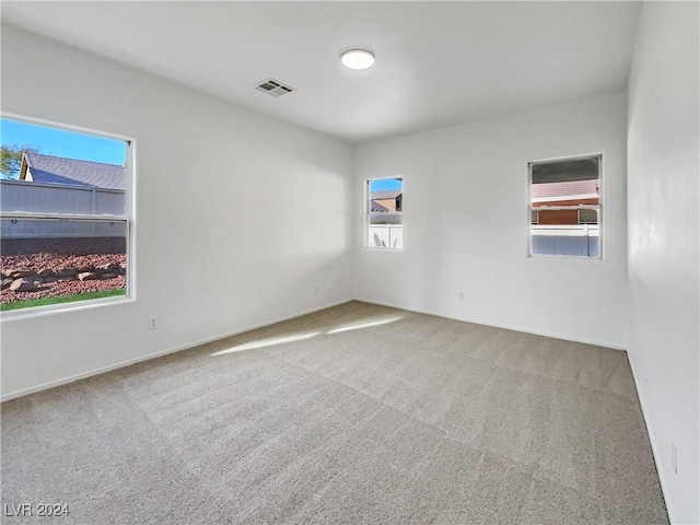
[[[245,331],[255,330],[257,328],[264,328],[266,326],[275,325],[277,323],[282,323],[284,320],[294,319],[296,317],[301,317],[303,315],[313,314],[314,312],[319,312],[322,310],[331,308],[334,306],[338,306],[340,304],[346,304],[353,301],[352,299],[346,299],[342,301],[337,301],[335,303],[325,304],[323,306],[318,306],[316,308],[306,310],[300,313],[295,313],[292,315],[288,315],[284,317],[279,317],[277,319],[268,320],[265,323],[259,323],[257,325],[247,326],[245,328],[241,328],[234,331],[229,331],[226,334],[220,334],[218,336],[208,337],[205,339],[200,339],[198,341],[188,342],[186,345],[180,345],[175,348],[170,348],[167,350],[161,350],[159,352],[149,353],[147,355],[139,355],[138,358],[128,359],[126,361],[120,361],[115,364],[109,364],[107,366],[101,366],[100,369],[90,370],[88,372],[82,372],[80,374],[70,375],[68,377],[62,377],[56,381],[49,381],[48,383],[43,383],[40,385],[32,386],[30,388],[24,388],[21,390],[11,392],[9,394],[4,394],[0,397],[0,402],[9,401],[11,399],[16,399],[18,397],[28,396],[30,394],[35,394],[37,392],[47,390],[49,388],[54,388],[61,385],[67,385],[69,383],[74,383],[75,381],[85,380],[88,377],[92,377],[100,374],[105,374],[107,372],[112,372],[113,370],[122,369],[125,366],[130,366],[132,364],[142,363],[143,361],[150,361],[152,359],[162,358],[163,355],[168,355],[171,353],[180,352],[183,350],[188,350],[190,348],[199,347],[200,345],[206,345],[208,342],[217,341],[219,339],[223,339],[231,336],[236,336],[238,334],[243,334]]]

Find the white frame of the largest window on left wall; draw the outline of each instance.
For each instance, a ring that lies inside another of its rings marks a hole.
[[[18,220],[18,221],[77,221],[77,222],[103,222],[103,223],[121,223],[125,226],[126,235],[126,283],[125,294],[113,298],[102,299],[88,299],[81,301],[71,301],[68,303],[51,304],[46,306],[32,306],[26,308],[10,310],[0,312],[0,319],[9,320],[15,318],[26,318],[37,315],[45,315],[52,312],[62,312],[68,310],[78,310],[84,307],[92,307],[97,305],[115,304],[136,301],[136,221],[135,221],[135,202],[136,202],[136,139],[132,137],[125,137],[121,135],[109,133],[105,131],[97,131],[90,128],[83,128],[80,126],[72,126],[62,122],[56,122],[51,120],[44,120],[39,118],[26,117],[24,115],[16,115],[12,113],[0,112],[0,117],[16,120],[20,122],[27,122],[37,126],[46,126],[57,128],[66,131],[73,131],[84,135],[92,135],[94,137],[101,137],[105,139],[122,141],[126,144],[126,161],[125,161],[125,174],[126,174],[126,187],[124,192],[125,199],[125,214],[124,215],[110,215],[110,214],[71,214],[71,213],[36,213],[36,212],[22,212],[22,211],[1,211],[1,220]]]

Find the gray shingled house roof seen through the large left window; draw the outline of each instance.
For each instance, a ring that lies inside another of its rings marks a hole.
[[[24,153],[22,163],[27,163],[36,183],[69,184],[106,189],[126,189],[127,176],[124,166],[102,162],[80,161],[61,156]],[[21,178],[25,176],[23,166]]]

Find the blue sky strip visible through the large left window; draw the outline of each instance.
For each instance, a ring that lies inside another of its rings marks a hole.
[[[0,118],[2,145],[31,145],[45,155],[124,165],[126,145],[121,140]]]

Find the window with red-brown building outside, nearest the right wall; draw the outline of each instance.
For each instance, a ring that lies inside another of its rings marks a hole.
[[[529,163],[529,254],[600,258],[602,155]]]

